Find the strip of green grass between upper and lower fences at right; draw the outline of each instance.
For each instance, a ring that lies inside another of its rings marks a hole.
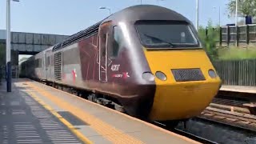
[[[218,49],[218,58],[220,60],[242,60],[242,59],[256,59],[256,47],[248,48],[230,47]]]

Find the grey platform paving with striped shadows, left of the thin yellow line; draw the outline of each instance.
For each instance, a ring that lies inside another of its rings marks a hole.
[[[0,102],[0,143],[82,143],[48,110],[25,92]]]

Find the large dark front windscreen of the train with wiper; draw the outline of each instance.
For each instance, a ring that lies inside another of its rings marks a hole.
[[[135,27],[142,45],[148,48],[199,47],[198,38],[186,22],[142,21]]]

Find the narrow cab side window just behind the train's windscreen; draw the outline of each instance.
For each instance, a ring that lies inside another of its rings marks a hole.
[[[122,31],[118,26],[114,26],[114,39],[113,39],[113,46],[112,46],[112,53],[111,53],[111,58],[117,58],[118,57],[118,52],[121,49],[121,44],[122,44]]]

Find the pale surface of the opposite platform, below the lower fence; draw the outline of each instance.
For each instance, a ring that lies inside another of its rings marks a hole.
[[[227,86],[227,85],[223,85],[220,90],[256,94],[256,86]]]

